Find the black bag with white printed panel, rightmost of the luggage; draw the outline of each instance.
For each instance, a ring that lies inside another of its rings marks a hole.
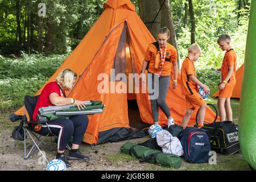
[[[232,121],[204,124],[201,128],[209,131],[212,150],[226,155],[240,151],[238,127]]]

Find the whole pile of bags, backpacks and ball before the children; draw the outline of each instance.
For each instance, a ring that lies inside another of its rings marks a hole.
[[[151,139],[138,144],[128,142],[121,151],[141,162],[174,168],[180,167],[180,156],[189,163],[208,163],[211,150],[225,155],[240,151],[238,128],[230,121],[205,124],[201,129],[186,127],[184,130],[179,125],[170,125],[164,130],[154,124],[149,127],[148,134]]]

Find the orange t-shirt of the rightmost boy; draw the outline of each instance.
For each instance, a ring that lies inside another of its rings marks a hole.
[[[234,49],[230,49],[229,51],[226,51],[224,59],[222,60],[222,65],[221,65],[222,81],[225,80],[229,72],[229,67],[232,67],[232,66],[234,67],[234,71],[228,82],[236,81],[237,55]]]

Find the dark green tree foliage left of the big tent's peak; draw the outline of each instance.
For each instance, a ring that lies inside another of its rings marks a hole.
[[[16,2],[19,2],[20,28],[22,47],[19,51],[28,49],[28,24],[33,28],[30,46],[32,52],[40,51],[38,43],[42,41],[43,53],[63,54],[70,52],[80,43],[84,35],[103,11],[106,0],[23,0],[0,1],[0,53],[8,55],[19,49],[16,38]],[[46,16],[38,16],[39,3],[46,3]],[[28,23],[28,17],[30,22]],[[42,23],[40,24],[40,19]],[[40,24],[40,26],[39,26]],[[42,37],[39,37],[42,30]]]

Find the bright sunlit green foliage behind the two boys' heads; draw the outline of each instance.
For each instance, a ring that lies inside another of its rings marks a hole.
[[[183,23],[185,2],[184,0],[171,1],[181,60],[187,56],[188,47],[191,44],[189,15],[187,24]],[[245,57],[250,1],[247,4],[246,7],[238,11],[238,0],[202,0],[200,3],[193,0],[196,19],[196,42],[203,51],[199,61],[195,64],[197,69],[221,67],[225,53],[217,44],[218,36],[221,34],[231,36],[232,47],[237,53],[237,69],[241,66]]]

